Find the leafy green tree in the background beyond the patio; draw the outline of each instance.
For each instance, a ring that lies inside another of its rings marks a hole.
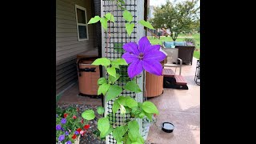
[[[150,22],[154,28],[169,29],[171,38],[176,41],[178,34],[191,33],[200,25],[200,6],[197,4],[198,0],[186,0],[177,4],[167,1],[166,5],[154,8],[154,18]]]

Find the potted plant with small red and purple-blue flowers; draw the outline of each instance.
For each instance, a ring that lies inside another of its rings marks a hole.
[[[79,144],[80,136],[90,128],[87,121],[78,116],[78,109],[56,109],[56,143]]]

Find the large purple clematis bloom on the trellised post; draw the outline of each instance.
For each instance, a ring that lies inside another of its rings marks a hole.
[[[152,46],[150,41],[146,37],[142,37],[138,41],[138,45],[135,42],[126,43],[123,46],[126,50],[125,54],[122,54],[122,58],[130,66],[128,66],[128,75],[130,78],[141,74],[143,70],[146,70],[150,74],[162,75],[161,61],[166,58],[166,54],[160,50],[160,45]]]

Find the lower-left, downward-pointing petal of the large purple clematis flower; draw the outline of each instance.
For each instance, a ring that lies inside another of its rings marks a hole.
[[[132,79],[134,76],[141,74],[142,70],[142,61],[138,59],[130,63],[130,66],[128,66],[128,75]]]

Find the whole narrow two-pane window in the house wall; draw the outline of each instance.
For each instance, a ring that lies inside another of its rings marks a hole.
[[[78,41],[88,40],[88,25],[86,17],[86,8],[75,5],[75,14],[77,18]]]

